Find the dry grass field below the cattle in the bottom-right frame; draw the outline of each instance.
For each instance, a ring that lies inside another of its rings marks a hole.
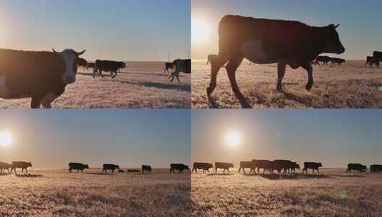
[[[382,174],[191,175],[193,216],[381,216]]]

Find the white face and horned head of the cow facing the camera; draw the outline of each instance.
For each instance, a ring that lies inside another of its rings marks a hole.
[[[64,74],[61,74],[62,81],[64,81],[64,84],[74,83],[74,81],[76,81],[77,64],[79,62],[79,56],[84,54],[86,50],[76,52],[72,49],[65,49],[62,52],[57,52],[53,49],[53,51],[55,54],[59,54],[64,59],[65,71]]]

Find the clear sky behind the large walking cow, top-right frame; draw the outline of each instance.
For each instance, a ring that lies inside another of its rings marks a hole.
[[[211,29],[206,40],[193,41],[194,59],[206,59],[207,54],[217,52],[218,21],[225,14],[296,20],[313,26],[341,24],[338,33],[346,59],[365,59],[373,50],[382,50],[380,0],[193,0],[191,8],[193,21],[206,21]]]

